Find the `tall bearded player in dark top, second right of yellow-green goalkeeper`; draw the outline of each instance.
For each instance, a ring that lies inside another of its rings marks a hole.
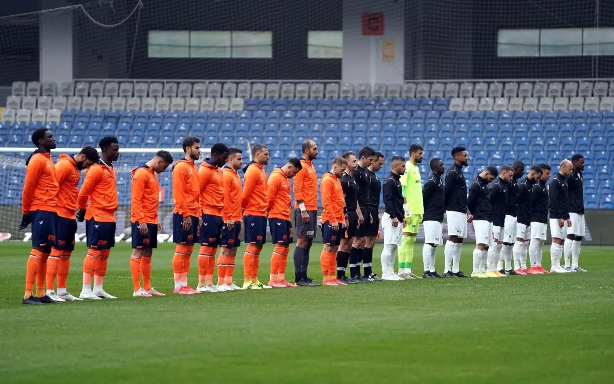
[[[448,241],[444,254],[446,264],[443,275],[446,277],[468,277],[462,273],[461,251],[463,238],[467,237],[467,185],[462,167],[467,167],[467,148],[452,149],[454,165],[446,172],[446,217],[448,220]]]

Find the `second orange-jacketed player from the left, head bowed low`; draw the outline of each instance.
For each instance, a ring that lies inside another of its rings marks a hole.
[[[75,249],[77,233],[77,185],[81,170],[90,168],[100,161],[95,147],[86,146],[76,155],[61,154],[55,163],[55,178],[58,181],[58,206],[56,208],[55,245],[47,259],[47,296],[55,301],[80,301],[66,291],[71,254]],[[58,276],[58,291],[53,290],[55,276]]]

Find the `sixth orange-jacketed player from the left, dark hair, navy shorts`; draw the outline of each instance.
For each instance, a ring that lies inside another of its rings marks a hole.
[[[222,209],[224,189],[222,167],[228,159],[226,144],[216,143],[211,147],[211,159],[204,159],[198,171],[200,210],[203,224],[198,234],[198,292],[224,292],[225,288],[213,284],[216,268],[217,247],[222,237]],[[228,289],[231,291],[231,289]]]

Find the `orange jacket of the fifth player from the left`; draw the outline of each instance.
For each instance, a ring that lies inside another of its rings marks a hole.
[[[194,162],[181,159],[173,165],[173,213],[184,217],[200,217],[198,168]]]

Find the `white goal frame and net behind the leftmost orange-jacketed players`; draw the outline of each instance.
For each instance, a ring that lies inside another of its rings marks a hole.
[[[115,174],[117,174],[117,200],[119,208],[115,214],[117,229],[115,237],[117,241],[130,239],[130,176],[131,171],[139,164],[148,162],[152,159],[155,152],[161,149],[171,152],[173,160],[183,157],[181,148],[149,148],[149,149],[122,149],[120,148],[119,160],[114,164]],[[21,190],[26,174],[25,160],[33,151],[33,148],[6,148],[0,147],[0,241],[2,240],[24,240],[28,241],[30,232],[29,227],[25,230],[18,230],[21,222]],[[78,148],[62,148],[52,151],[53,162],[56,162],[60,154],[77,154]],[[209,157],[209,149],[201,149],[200,164],[202,159]],[[172,165],[164,173],[158,174],[160,180],[160,208],[158,217],[163,227],[158,234],[159,241],[168,241],[173,234],[173,182]],[[81,173],[83,182],[85,170]],[[76,241],[83,241],[85,238],[85,222],[77,223]]]

